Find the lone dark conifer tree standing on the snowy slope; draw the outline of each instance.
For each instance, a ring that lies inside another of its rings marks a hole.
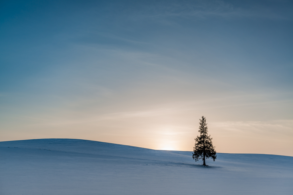
[[[214,149],[215,147],[212,144],[213,138],[211,138],[211,135],[207,134],[207,123],[204,116],[202,116],[202,118],[200,119],[199,129],[200,130],[198,132],[200,132],[200,136],[197,136],[195,138],[195,146],[193,149],[192,158],[195,161],[199,161],[199,159],[202,159],[203,165],[207,166],[205,164],[205,159],[213,158],[213,160],[215,161],[215,159],[217,158],[217,153]]]

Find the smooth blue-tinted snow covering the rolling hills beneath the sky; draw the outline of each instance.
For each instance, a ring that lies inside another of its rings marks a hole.
[[[8,148],[9,147],[9,148]],[[0,194],[293,194],[293,157],[160,151],[81,139],[0,142]]]

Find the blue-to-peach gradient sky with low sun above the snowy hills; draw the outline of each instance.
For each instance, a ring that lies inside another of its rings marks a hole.
[[[1,1],[0,141],[293,156],[292,1]]]

